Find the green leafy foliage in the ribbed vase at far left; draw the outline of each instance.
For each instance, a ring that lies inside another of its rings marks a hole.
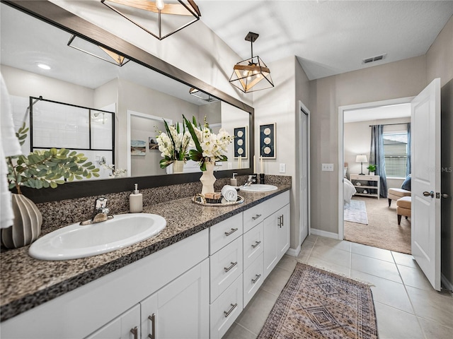
[[[21,145],[25,143],[27,132],[24,123],[16,133]],[[16,187],[18,194],[21,194],[21,186],[55,189],[59,184],[74,179],[99,177],[99,169],[86,160],[84,154],[65,148],[35,150],[29,155],[6,157],[9,189]]]

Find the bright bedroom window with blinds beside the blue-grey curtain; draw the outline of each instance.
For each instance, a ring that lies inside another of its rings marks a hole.
[[[406,177],[407,148],[408,133],[406,131],[384,132],[386,177]]]

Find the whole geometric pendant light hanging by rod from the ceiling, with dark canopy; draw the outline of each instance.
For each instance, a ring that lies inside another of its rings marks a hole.
[[[231,85],[236,86],[239,90],[243,91],[243,93],[274,87],[268,66],[266,66],[258,55],[253,57],[253,42],[255,42],[258,37],[258,34],[248,32],[246,41],[251,42],[251,58],[239,61],[234,65],[233,74],[231,74],[231,77],[229,78]]]

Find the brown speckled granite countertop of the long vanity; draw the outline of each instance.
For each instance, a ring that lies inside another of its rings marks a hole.
[[[144,208],[144,213],[154,213],[166,219],[167,225],[160,234],[98,256],[67,261],[40,261],[28,255],[29,246],[5,251],[0,258],[1,321],[149,256],[290,188],[289,185],[278,185],[277,191],[241,191],[239,194],[243,196],[244,202],[236,206],[200,206],[193,203],[191,198],[149,206]],[[50,227],[46,232],[57,228],[59,227]]]

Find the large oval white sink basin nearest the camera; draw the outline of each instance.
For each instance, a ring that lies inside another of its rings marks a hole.
[[[96,256],[153,237],[165,226],[164,218],[149,213],[115,215],[113,219],[84,226],[77,222],[40,237],[28,253],[41,260]]]

